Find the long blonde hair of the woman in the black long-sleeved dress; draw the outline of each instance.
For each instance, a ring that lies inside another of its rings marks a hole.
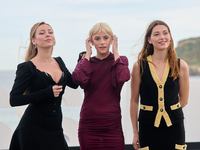
[[[29,42],[29,46],[28,46],[28,49],[26,52],[25,62],[31,60],[38,53],[37,47],[32,43],[32,39],[35,38],[35,33],[36,33],[37,28],[43,24],[49,25],[45,22],[38,22],[38,23],[34,24],[30,30],[30,42]]]

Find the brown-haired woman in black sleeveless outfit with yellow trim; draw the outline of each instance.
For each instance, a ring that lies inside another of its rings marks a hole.
[[[132,70],[130,114],[136,150],[186,149],[182,108],[188,95],[188,66],[177,58],[168,25],[155,20]]]

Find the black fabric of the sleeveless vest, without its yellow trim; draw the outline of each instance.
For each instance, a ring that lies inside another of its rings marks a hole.
[[[141,104],[153,106],[153,111],[140,110],[138,120],[143,123],[154,125],[155,117],[158,111],[158,88],[151,76],[149,64],[143,62],[144,72],[141,76],[140,85],[140,99]],[[173,77],[170,77],[171,69],[169,71],[167,80],[164,85],[164,99],[165,110],[167,111],[172,124],[178,123],[183,120],[182,108],[171,110],[170,106],[179,102],[179,78],[173,81]]]

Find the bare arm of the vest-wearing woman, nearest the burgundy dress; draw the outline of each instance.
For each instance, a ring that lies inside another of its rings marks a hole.
[[[140,148],[139,134],[138,134],[138,105],[139,105],[139,88],[141,83],[140,69],[138,62],[134,63],[131,73],[131,102],[130,102],[130,116],[133,126],[133,146],[135,150]]]

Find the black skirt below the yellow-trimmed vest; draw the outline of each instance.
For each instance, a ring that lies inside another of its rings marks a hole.
[[[175,144],[185,145],[183,121],[167,127],[162,118],[159,128],[140,123],[139,137],[141,148],[149,146],[149,150],[175,150]]]

